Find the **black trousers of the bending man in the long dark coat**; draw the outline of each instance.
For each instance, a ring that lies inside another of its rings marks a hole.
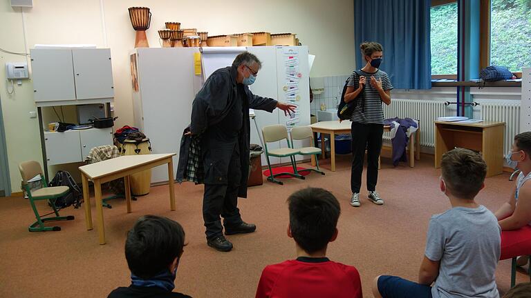
[[[241,181],[241,162],[238,144],[209,148],[205,152],[205,193],[203,195],[203,220],[207,239],[223,235],[223,224],[241,224],[238,209],[238,190]]]

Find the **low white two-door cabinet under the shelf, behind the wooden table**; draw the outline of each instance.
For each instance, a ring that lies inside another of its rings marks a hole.
[[[92,148],[113,144],[112,128],[44,132],[48,165],[84,161]]]

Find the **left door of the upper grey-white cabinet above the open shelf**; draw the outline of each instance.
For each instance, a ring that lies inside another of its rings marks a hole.
[[[35,102],[75,100],[72,50],[33,49],[31,68]]]

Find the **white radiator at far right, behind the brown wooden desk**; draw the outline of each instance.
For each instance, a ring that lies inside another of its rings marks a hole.
[[[505,122],[503,153],[510,150],[514,136],[520,132],[520,102],[481,103],[481,119]]]

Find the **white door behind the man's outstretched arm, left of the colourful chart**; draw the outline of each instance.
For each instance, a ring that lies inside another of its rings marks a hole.
[[[259,95],[261,97],[270,97],[272,99],[278,100],[277,93],[277,54],[274,47],[250,47],[248,48],[249,52],[255,54],[258,59],[262,62],[262,68],[258,73],[257,81],[255,81],[251,86],[250,90],[253,94]],[[263,110],[254,110],[256,115],[256,124],[251,120],[251,143],[260,144],[260,137],[262,136],[262,128],[264,126],[270,126],[273,124],[279,123],[279,110],[275,109],[272,113],[266,112]],[[262,138],[263,140],[263,138]],[[286,147],[286,142],[282,143]],[[268,143],[268,149],[278,149],[280,147],[280,142]],[[270,157],[271,164],[280,163],[278,157]],[[267,166],[267,160],[265,153],[262,155],[262,166]]]

